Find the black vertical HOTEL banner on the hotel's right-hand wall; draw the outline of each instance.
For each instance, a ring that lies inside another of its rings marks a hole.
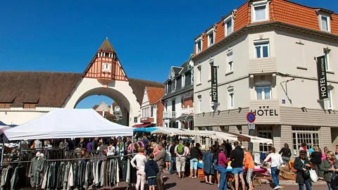
[[[326,77],[326,64],[325,56],[320,56],[317,58],[317,74],[318,74],[318,92],[319,100],[328,99],[329,95],[327,94],[327,77]]]

